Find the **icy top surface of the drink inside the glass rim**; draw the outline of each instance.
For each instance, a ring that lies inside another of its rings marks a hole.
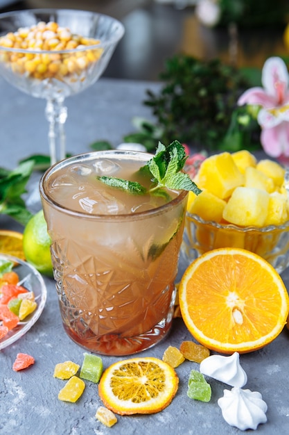
[[[146,154],[145,154],[146,156]],[[146,189],[152,185],[152,175],[140,168],[146,161],[139,159],[101,158],[83,163],[71,163],[51,179],[48,190],[53,201],[80,213],[120,215],[141,213],[166,204],[178,194],[163,189],[160,195],[137,195],[107,186],[98,177],[117,177],[137,181]]]

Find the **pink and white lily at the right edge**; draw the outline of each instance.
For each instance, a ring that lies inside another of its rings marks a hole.
[[[261,106],[257,120],[262,128],[261,144],[272,157],[289,156],[289,74],[281,58],[265,61],[262,69],[263,88],[248,89],[238,105]]]

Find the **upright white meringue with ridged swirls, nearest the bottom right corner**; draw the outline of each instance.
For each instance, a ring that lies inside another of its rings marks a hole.
[[[265,423],[265,412],[268,407],[258,391],[242,390],[234,387],[224,390],[224,396],[218,400],[222,416],[226,422],[240,430],[256,429],[260,423]]]

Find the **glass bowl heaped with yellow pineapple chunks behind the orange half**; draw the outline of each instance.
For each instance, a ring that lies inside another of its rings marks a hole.
[[[286,170],[247,150],[206,158],[190,193],[181,250],[183,267],[211,249],[240,247],[281,273],[289,265]]]

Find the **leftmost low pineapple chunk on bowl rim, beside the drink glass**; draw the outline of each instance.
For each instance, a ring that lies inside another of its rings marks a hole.
[[[226,204],[223,199],[216,197],[213,193],[202,190],[202,192],[195,197],[195,200],[189,208],[189,212],[207,221],[220,222]]]

